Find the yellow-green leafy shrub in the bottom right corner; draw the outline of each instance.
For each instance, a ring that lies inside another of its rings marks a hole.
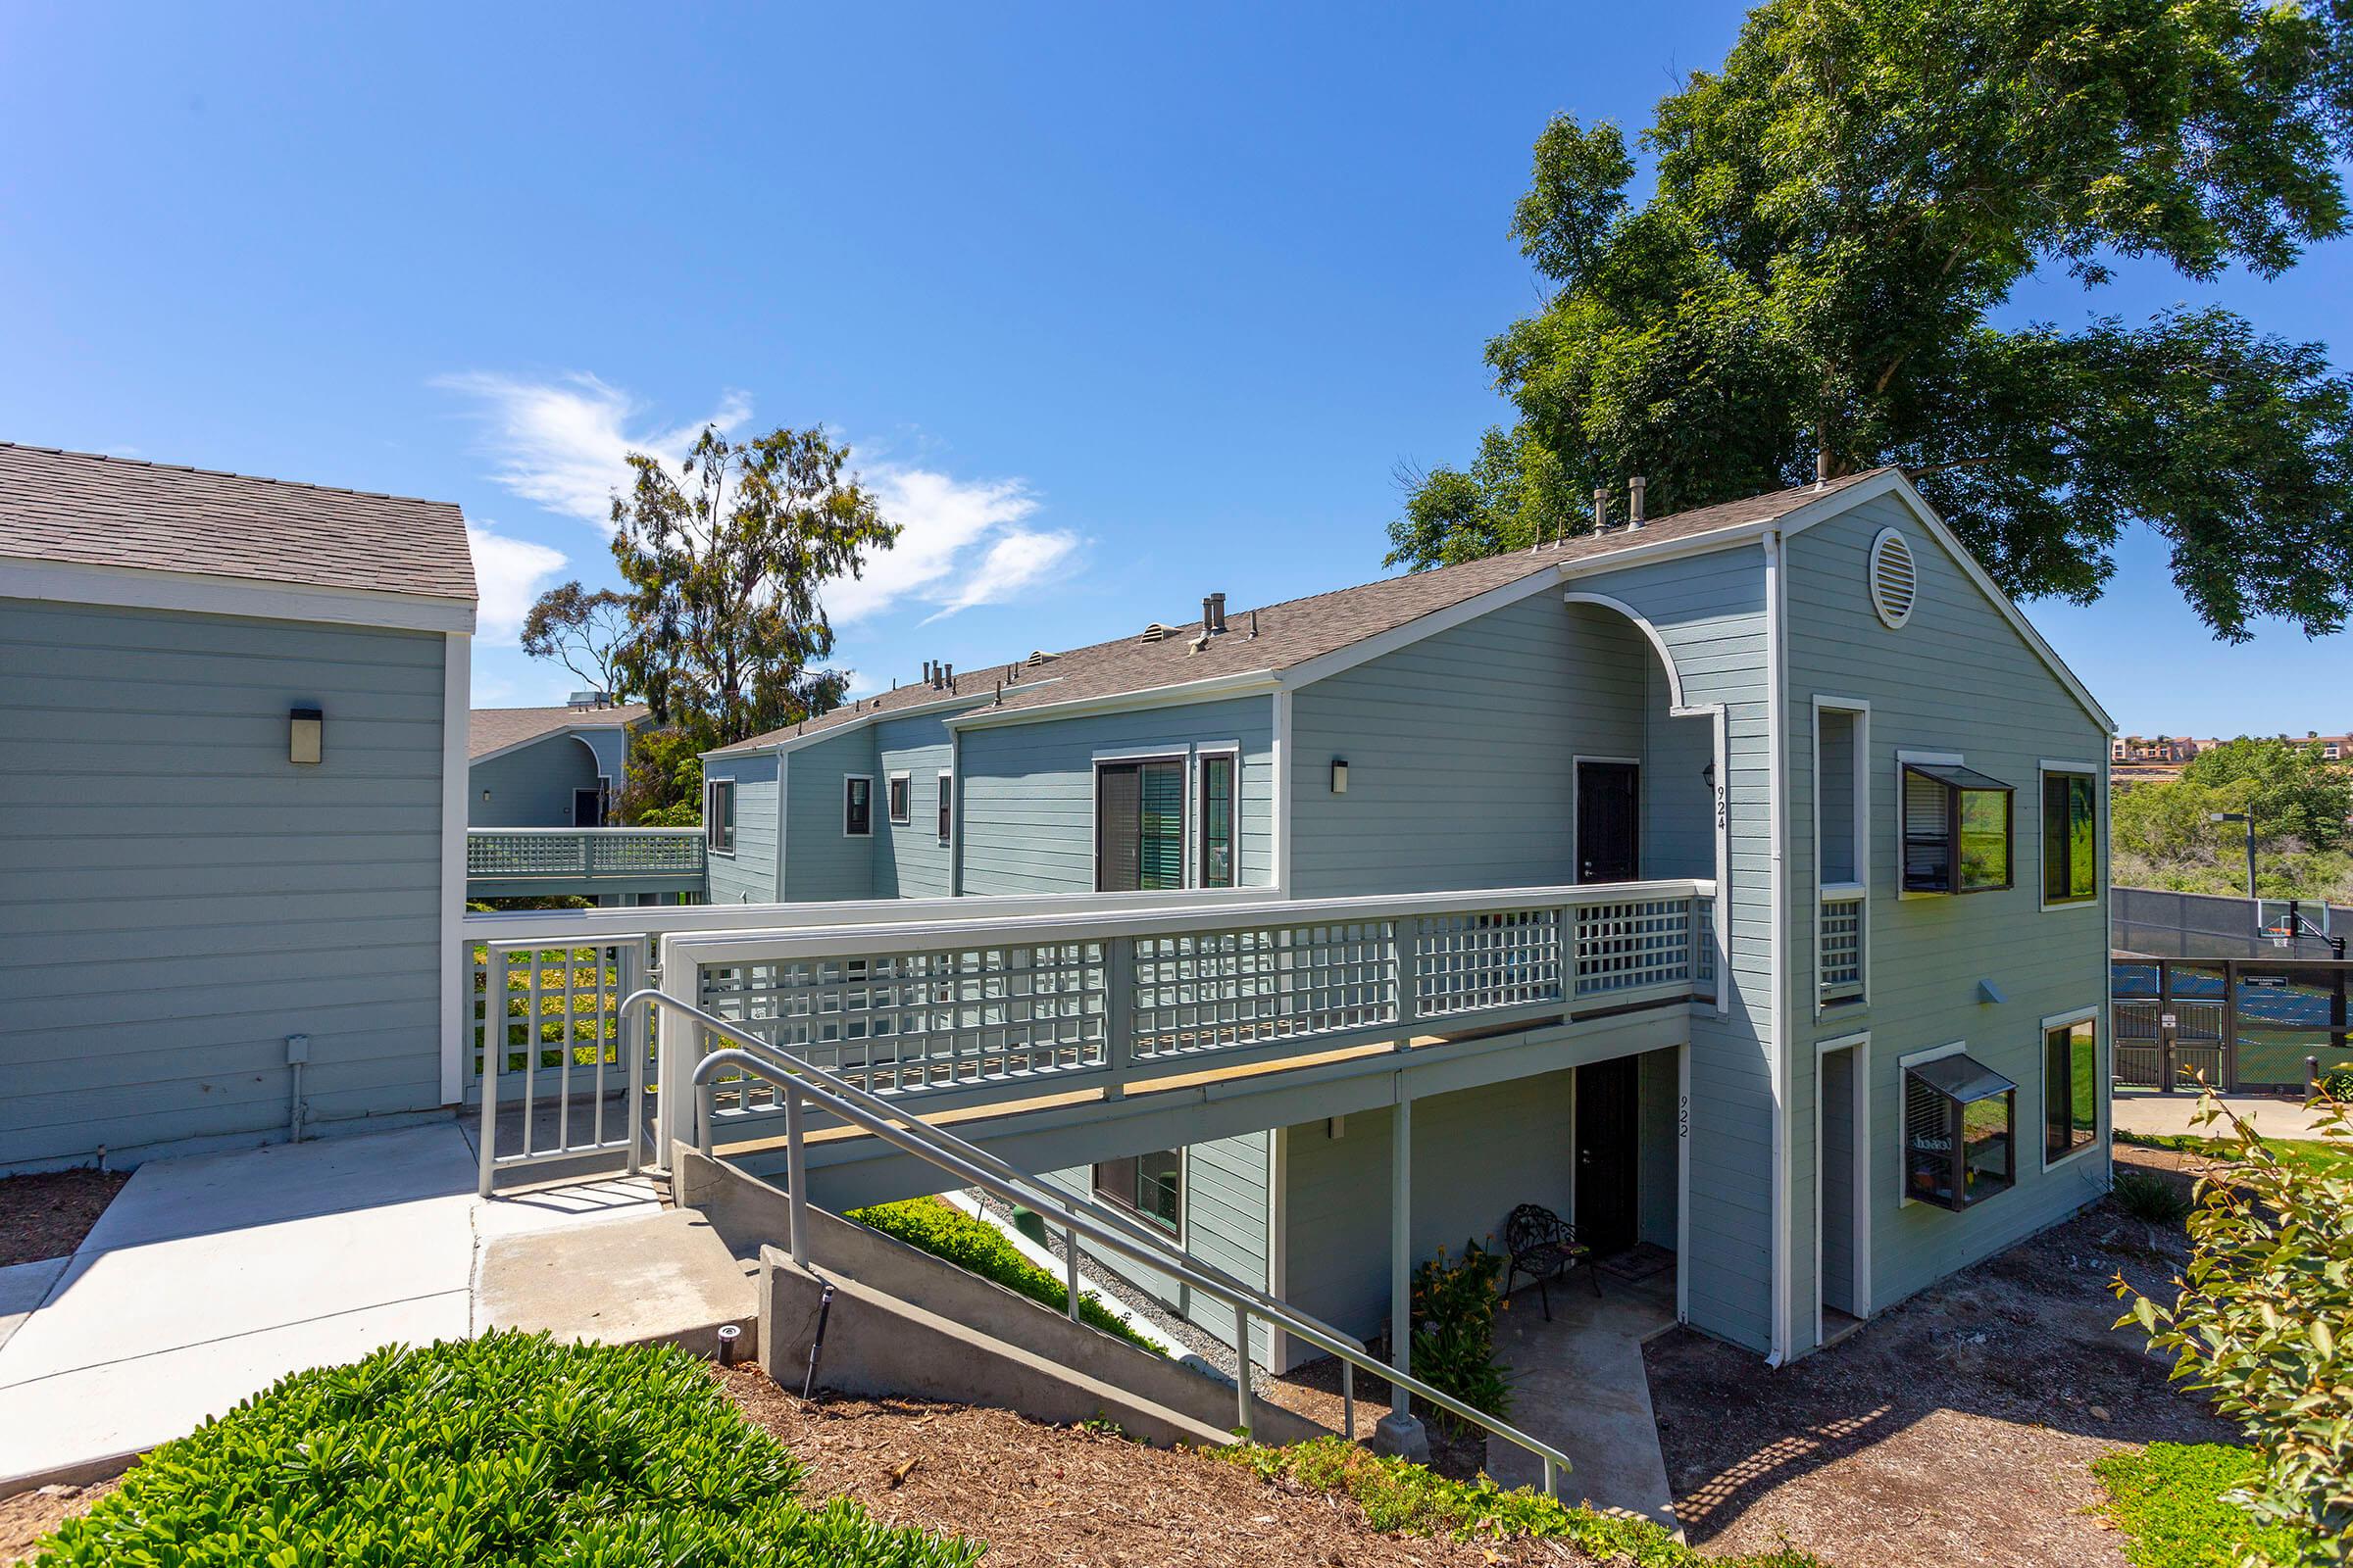
[[[2320,1135],[2353,1138],[2344,1105],[2318,1107]],[[2118,1328],[2148,1333],[2261,1455],[2231,1500],[2280,1530],[2247,1561],[2353,1563],[2353,1178],[2280,1161],[2212,1091],[2193,1121],[2228,1124],[2235,1154],[2198,1182],[2179,1300],[2118,1274],[2118,1298],[2132,1298]]]

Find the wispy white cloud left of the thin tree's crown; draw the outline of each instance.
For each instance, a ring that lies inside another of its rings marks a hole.
[[[631,430],[640,407],[621,388],[588,374],[520,381],[468,371],[438,376],[433,386],[480,404],[499,461],[492,473],[499,484],[551,512],[598,527],[612,520],[612,494],[631,484],[624,461],[631,451],[675,468],[706,423],[734,430],[751,418],[751,400],[727,393],[708,418],[675,430]]]

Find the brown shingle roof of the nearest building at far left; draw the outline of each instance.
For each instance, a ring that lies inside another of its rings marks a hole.
[[[473,602],[447,501],[0,442],[0,557]]]

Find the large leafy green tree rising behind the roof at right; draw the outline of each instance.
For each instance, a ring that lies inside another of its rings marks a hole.
[[[1518,423],[1409,475],[1391,562],[1901,463],[2014,595],[2092,599],[2127,524],[2221,637],[2337,630],[2353,381],[2214,306],[2000,329],[2031,273],[2271,277],[2346,228],[2353,0],[1769,0],[1642,134],[1553,120],[1511,233],[1546,306]]]

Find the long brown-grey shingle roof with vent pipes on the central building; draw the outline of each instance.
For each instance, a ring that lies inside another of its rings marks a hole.
[[[960,670],[955,684],[960,696],[986,701],[1000,679],[1007,679],[1009,684],[1035,682],[1021,691],[1007,691],[1005,705],[991,710],[1007,712],[1080,698],[1153,691],[1160,686],[1217,679],[1219,675],[1247,675],[1257,670],[1280,672],[1311,658],[1320,658],[1322,654],[1365,642],[1367,637],[1379,637],[1381,632],[1461,604],[1464,599],[1475,599],[1492,588],[1515,583],[1537,571],[1551,571],[1565,562],[1614,555],[1635,545],[1654,545],[1772,522],[1774,517],[1795,512],[1800,505],[1847,489],[1849,484],[1859,484],[1861,480],[1871,480],[1880,473],[1885,470],[1868,468],[1864,473],[1831,480],[1821,489],[1814,489],[1812,484],[1777,489],[1762,496],[1744,496],[1741,501],[1722,501],[1689,512],[1654,517],[1640,529],[1579,534],[1565,543],[1546,545],[1541,550],[1513,550],[1511,555],[1489,555],[1485,559],[1461,562],[1457,567],[1435,567],[1431,571],[1407,571],[1402,576],[1362,583],[1358,588],[1339,588],[1306,599],[1261,604],[1257,609],[1257,637],[1249,635],[1252,611],[1228,609],[1226,635],[1214,637],[1209,646],[1198,654],[1193,651],[1193,635],[1200,630],[1195,611],[1193,618],[1174,621],[1172,625],[1176,625],[1176,630],[1162,642],[1144,642],[1144,628],[1136,628],[1139,635],[1054,654],[1042,663],[1024,661],[1012,675],[1007,675],[1007,665]],[[939,703],[944,698],[944,691],[932,691],[927,684],[899,686],[896,691],[882,696],[861,698],[849,708],[835,708],[833,712],[809,719],[807,724],[772,729],[765,736],[753,736],[722,750],[739,752],[774,745],[776,741],[791,741],[793,736],[814,736],[826,729],[856,724],[861,719],[873,719],[875,715],[889,717],[894,710]]]

